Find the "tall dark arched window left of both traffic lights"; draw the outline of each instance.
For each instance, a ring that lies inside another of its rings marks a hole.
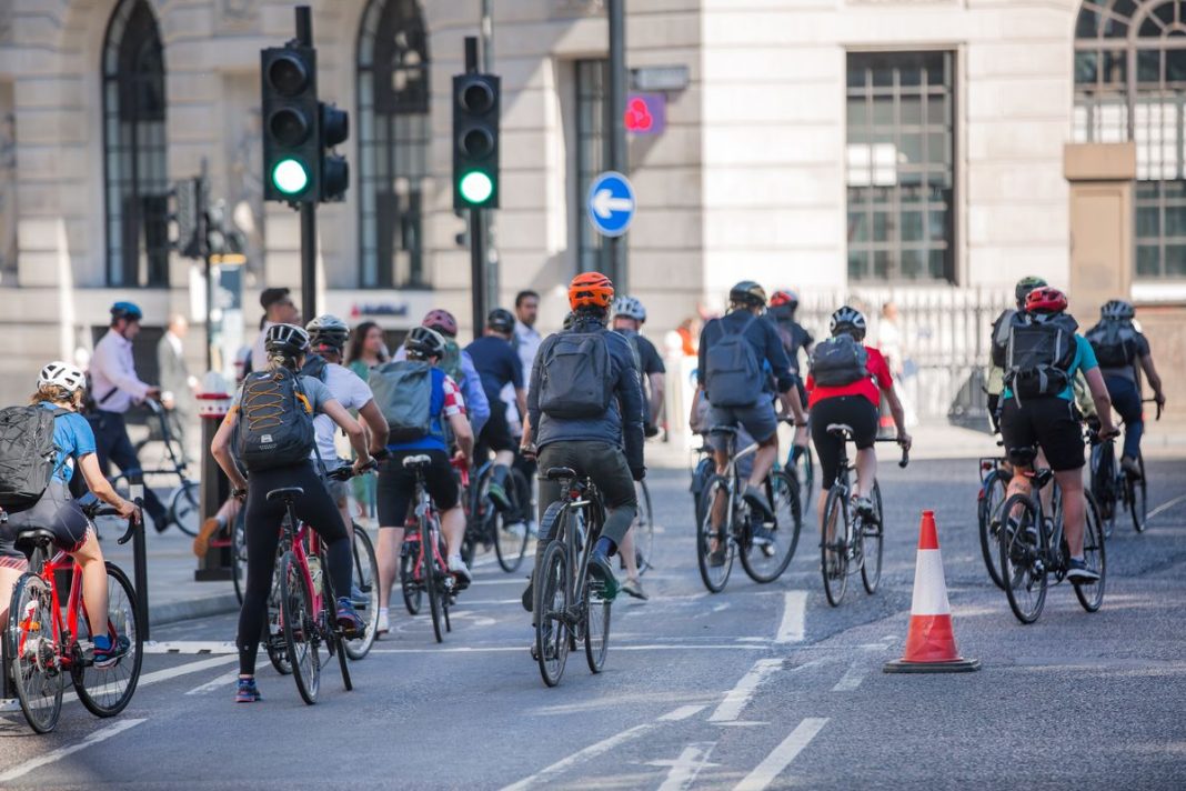
[[[107,285],[168,285],[165,62],[145,0],[121,0],[103,44]]]

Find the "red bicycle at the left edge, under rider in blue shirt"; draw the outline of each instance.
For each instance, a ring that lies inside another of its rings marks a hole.
[[[136,500],[139,511],[140,502]],[[97,503],[83,506],[88,518],[117,513]],[[2,515],[2,511],[0,511]],[[7,519],[4,515],[2,519]],[[119,543],[127,543],[135,532],[135,519],[128,519],[127,531]],[[37,733],[49,733],[62,714],[62,695],[66,675],[78,700],[95,716],[109,717],[122,712],[132,701],[140,681],[144,661],[141,613],[127,575],[114,563],[107,567],[107,624],[111,645],[122,636],[128,652],[109,668],[95,666],[90,621],[82,599],[82,567],[64,551],[55,550],[53,534],[28,528],[17,535],[17,546],[28,554],[28,570],[13,588],[8,606],[7,640],[4,672],[12,678],[21,712]],[[71,570],[70,589],[63,619],[56,583],[57,572]]]

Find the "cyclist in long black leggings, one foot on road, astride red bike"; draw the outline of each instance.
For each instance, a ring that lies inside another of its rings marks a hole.
[[[337,623],[347,639],[358,637],[363,630],[363,621],[355,612],[350,597],[346,595],[351,589],[352,570],[350,536],[346,534],[342,515],[325,487],[319,471],[310,459],[315,447],[315,439],[307,447],[300,447],[301,444],[296,444],[298,447],[291,453],[294,460],[279,466],[269,465],[253,468],[246,459],[241,459],[248,465],[250,478],[243,477],[238,464],[231,455],[232,441],[237,446],[237,455],[244,455],[243,438],[251,436],[260,430],[257,426],[253,425],[262,422],[257,417],[260,413],[264,409],[274,409],[278,401],[289,402],[287,397],[268,398],[268,394],[260,393],[257,395],[257,391],[253,391],[255,388],[262,390],[263,388],[260,385],[270,385],[272,393],[285,394],[286,389],[293,393],[295,397],[289,403],[294,402],[296,406],[287,407],[291,412],[282,414],[279,421],[272,421],[275,427],[264,430],[275,435],[282,432],[289,434],[298,432],[295,426],[302,421],[302,417],[296,410],[301,408],[307,410],[310,423],[312,423],[312,416],[324,414],[350,438],[350,445],[358,455],[355,461],[355,471],[362,472],[370,465],[370,453],[362,426],[350,416],[345,407],[333,397],[330,389],[320,379],[296,374],[305,364],[305,356],[310,349],[308,333],[293,324],[274,324],[266,332],[264,349],[268,352],[268,368],[264,371],[253,372],[243,382],[243,385],[235,394],[230,412],[222,426],[218,427],[210,445],[210,452],[234,486],[232,495],[247,498],[244,515],[247,524],[247,591],[243,593],[243,608],[238,615],[240,676],[235,695],[235,700],[241,703],[260,700],[260,691],[255,684],[255,655],[260,648],[268,591],[272,587],[272,576],[275,570],[280,523],[285,518],[283,503],[269,500],[267,497],[269,491],[288,486],[299,486],[304,490],[304,495],[296,500],[296,516],[317,530],[325,543],[327,572],[333,581],[334,591],[338,592]],[[270,403],[263,403],[264,400]],[[285,408],[286,406],[281,403],[281,409]],[[279,442],[279,440],[276,441]]]

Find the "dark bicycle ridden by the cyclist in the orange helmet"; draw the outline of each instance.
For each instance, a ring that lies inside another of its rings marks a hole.
[[[605,669],[610,650],[612,601],[588,575],[589,556],[601,537],[605,505],[597,485],[570,467],[550,467],[544,478],[560,483],[561,498],[544,511],[541,536],[551,536],[533,574],[535,642],[531,657],[540,676],[555,687],[565,675],[569,650],[585,644],[589,671]]]

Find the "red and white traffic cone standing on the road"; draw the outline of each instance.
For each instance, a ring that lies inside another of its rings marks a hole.
[[[943,556],[935,529],[935,511],[923,511],[914,566],[914,600],[910,607],[910,632],[900,659],[887,662],[886,672],[969,672],[980,670],[978,659],[964,659],[951,631],[951,605],[943,579]]]

